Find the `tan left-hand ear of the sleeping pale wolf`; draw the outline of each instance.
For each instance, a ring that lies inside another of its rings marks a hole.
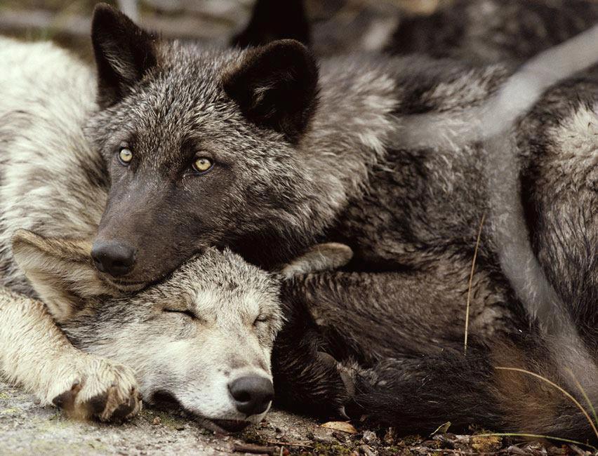
[[[84,310],[94,297],[119,295],[98,277],[89,241],[49,239],[19,229],[12,243],[17,264],[56,321]]]

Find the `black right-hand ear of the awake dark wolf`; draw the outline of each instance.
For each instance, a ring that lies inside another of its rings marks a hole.
[[[318,67],[303,44],[284,39],[248,49],[222,82],[247,119],[296,142],[316,105]]]

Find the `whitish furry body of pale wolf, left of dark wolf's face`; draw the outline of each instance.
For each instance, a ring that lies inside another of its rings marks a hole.
[[[0,93],[1,283],[28,293],[12,260],[15,229],[91,236],[105,206],[102,160],[83,134],[95,76],[51,43],[0,37]]]

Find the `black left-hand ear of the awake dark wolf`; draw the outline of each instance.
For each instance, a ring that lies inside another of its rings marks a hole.
[[[157,65],[156,37],[107,4],[95,6],[91,41],[98,68],[100,107],[109,107],[121,100]]]

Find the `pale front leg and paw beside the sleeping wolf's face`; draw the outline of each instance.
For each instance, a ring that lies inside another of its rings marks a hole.
[[[76,349],[43,303],[6,288],[0,288],[0,368],[70,417],[122,420],[141,408],[133,370]]]

